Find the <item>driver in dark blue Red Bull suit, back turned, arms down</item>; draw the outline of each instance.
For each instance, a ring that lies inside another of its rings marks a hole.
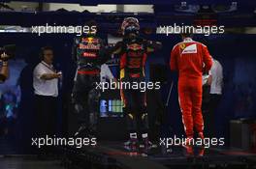
[[[96,26],[94,20],[88,21],[87,26]],[[73,47],[73,57],[77,63],[74,79],[72,101],[80,116],[80,128],[75,136],[95,136],[99,110],[101,65],[110,59],[102,39],[97,37],[97,30],[77,37]]]

